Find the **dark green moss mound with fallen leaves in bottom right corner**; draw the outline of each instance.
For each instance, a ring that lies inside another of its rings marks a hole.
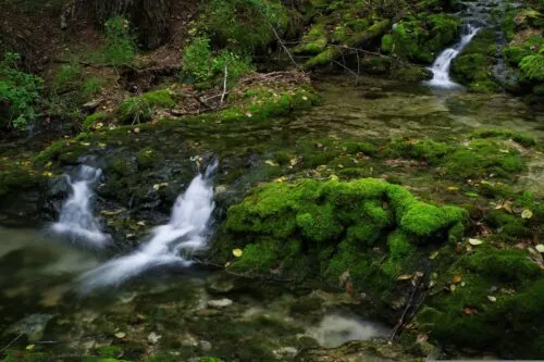
[[[416,317],[418,328],[445,344],[503,357],[542,355],[542,276],[523,251],[480,247],[441,276]]]

